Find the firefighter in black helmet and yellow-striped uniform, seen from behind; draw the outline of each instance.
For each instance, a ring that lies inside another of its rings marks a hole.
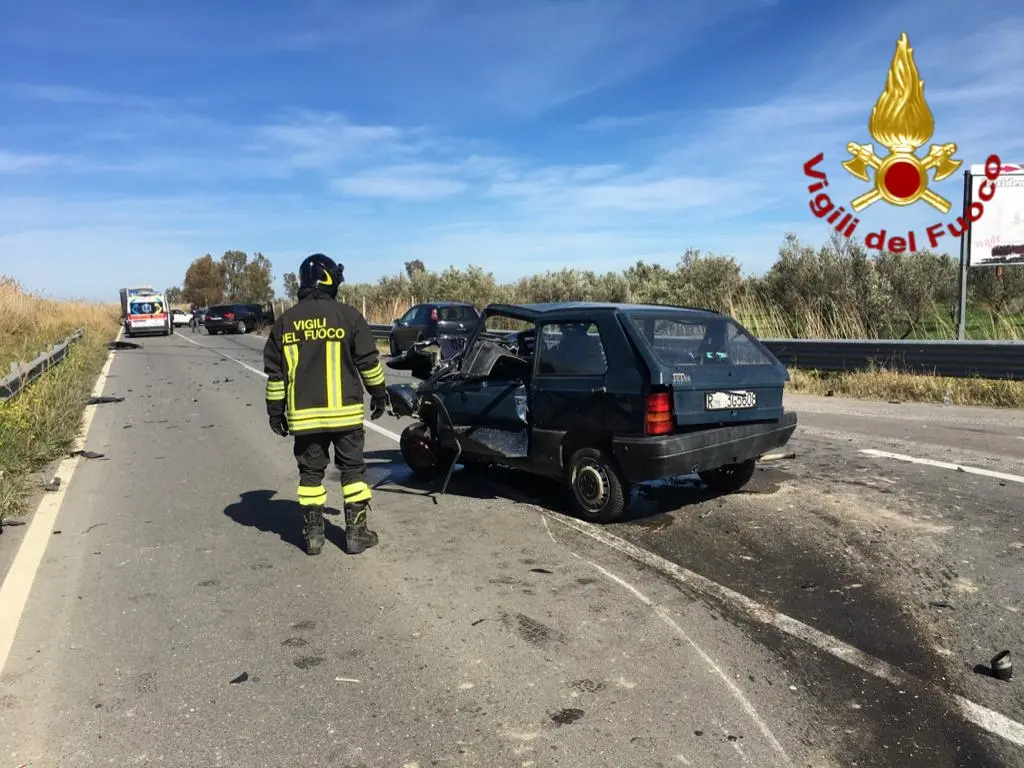
[[[371,492],[362,459],[362,392],[371,420],[387,408],[384,369],[367,318],[337,300],[344,265],[314,253],[299,266],[299,301],[274,322],[263,347],[270,429],[295,438],[306,553],[324,547],[324,473],[334,445],[341,470],[345,551],[355,555],[378,543],[367,527]]]

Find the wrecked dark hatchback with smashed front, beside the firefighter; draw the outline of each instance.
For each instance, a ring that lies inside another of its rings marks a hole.
[[[422,380],[388,386],[393,413],[418,420],[400,442],[417,478],[446,486],[457,463],[502,464],[561,479],[596,522],[620,518],[639,482],[697,473],[738,490],[797,427],[785,367],[708,310],[492,304],[464,345],[418,342],[387,365]]]

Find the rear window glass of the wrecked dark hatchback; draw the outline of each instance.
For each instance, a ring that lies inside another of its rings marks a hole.
[[[631,314],[634,327],[665,366],[773,366],[775,360],[739,325],[725,316]]]

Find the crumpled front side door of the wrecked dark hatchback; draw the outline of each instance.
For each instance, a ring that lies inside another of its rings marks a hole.
[[[525,459],[531,362],[485,340],[478,340],[465,359],[467,378],[438,395],[451,420],[446,426],[468,454],[494,461]],[[443,414],[441,419],[445,426]]]

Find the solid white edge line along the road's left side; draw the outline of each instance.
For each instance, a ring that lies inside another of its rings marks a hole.
[[[121,340],[121,331],[115,341]],[[114,362],[114,351],[106,355],[106,361],[99,371],[92,395],[98,397],[103,393],[106,384],[106,377],[111,372],[111,365]],[[89,437],[89,427],[92,426],[92,419],[96,415],[98,406],[86,406],[82,418],[82,429],[79,436],[72,445],[73,451],[85,449],[85,442]],[[53,528],[56,525],[57,515],[68,495],[68,487],[71,485],[72,476],[82,461],[81,456],[71,456],[61,461],[54,472],[60,478],[60,485],[54,492],[45,492],[43,498],[36,507],[36,514],[32,517],[29,530],[22,540],[14,562],[11,563],[10,570],[7,571],[3,584],[0,585],[0,675],[3,674],[7,665],[7,657],[14,644],[14,636],[17,634],[17,627],[25,613],[25,606],[29,602],[29,595],[32,592],[32,585],[36,581],[36,573],[39,571],[39,563],[43,560],[46,546],[53,538]]]

